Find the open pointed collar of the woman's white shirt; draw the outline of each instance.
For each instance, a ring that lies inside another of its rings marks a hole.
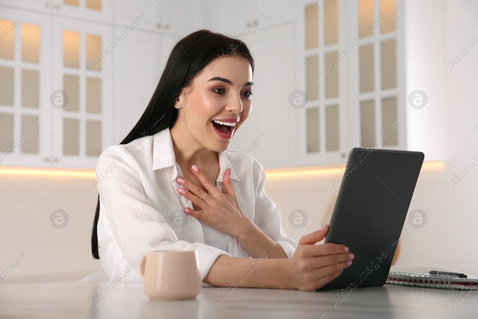
[[[226,151],[217,152],[217,154],[219,155],[219,176],[217,176],[217,182],[222,182],[224,172],[231,167],[232,164]],[[173,140],[171,139],[169,128],[166,128],[154,134],[152,169],[157,170],[174,165],[176,165],[176,156],[174,155]],[[231,179],[240,181],[234,169],[231,171]]]

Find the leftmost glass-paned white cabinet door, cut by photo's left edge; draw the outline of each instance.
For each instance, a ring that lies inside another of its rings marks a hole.
[[[50,20],[0,12],[0,165],[49,166]]]

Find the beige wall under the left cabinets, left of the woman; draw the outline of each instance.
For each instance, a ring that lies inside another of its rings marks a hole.
[[[102,269],[91,255],[98,191],[90,179],[9,174],[0,180],[0,272],[28,254],[4,283],[80,280]],[[63,229],[50,223],[56,209],[69,216]]]

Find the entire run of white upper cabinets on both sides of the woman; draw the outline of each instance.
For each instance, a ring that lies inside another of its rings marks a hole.
[[[32,5],[12,3],[0,0],[0,19]],[[26,143],[30,153],[15,150],[1,165],[93,168],[140,118],[175,42],[205,27],[243,39],[256,62],[252,113],[229,149],[268,168],[344,163],[357,146],[407,149],[402,1],[51,0],[34,8],[25,23],[40,29],[39,61],[21,58],[23,28],[15,56],[0,57],[15,95],[0,99],[0,148],[37,117],[38,150]],[[41,80],[37,108],[21,102],[23,82],[35,82],[31,70]],[[32,81],[22,82],[23,73]],[[69,92],[65,109],[51,105],[58,89]],[[303,108],[291,103],[296,90],[307,92]]]

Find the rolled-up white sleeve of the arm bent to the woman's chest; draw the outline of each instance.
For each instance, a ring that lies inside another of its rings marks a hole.
[[[266,174],[259,161],[255,161],[259,168],[253,171],[258,177],[257,195],[255,200],[254,223],[274,242],[281,245],[287,257],[291,258],[297,248],[297,244],[287,237],[281,224],[281,212],[269,198],[264,190]]]

